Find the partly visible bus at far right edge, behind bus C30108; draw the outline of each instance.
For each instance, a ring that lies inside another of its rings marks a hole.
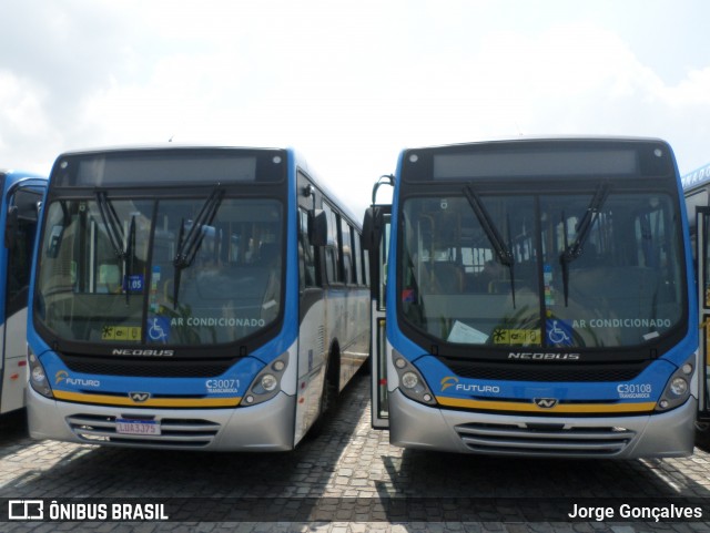
[[[699,428],[703,431],[698,433],[701,441],[710,441],[710,399],[708,398],[708,370],[710,366],[710,247],[708,246],[708,235],[710,235],[710,164],[702,166],[681,178],[686,194],[686,208],[688,211],[688,225],[690,227],[690,242],[696,260],[696,278],[698,281],[698,308],[699,315],[696,317],[700,325],[700,372],[699,379],[706,386],[701,388],[700,412],[698,416]]]

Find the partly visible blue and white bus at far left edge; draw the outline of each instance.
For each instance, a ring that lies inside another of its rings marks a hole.
[[[0,171],[0,414],[24,407],[27,383],[27,303],[37,219],[47,178],[19,171]]]

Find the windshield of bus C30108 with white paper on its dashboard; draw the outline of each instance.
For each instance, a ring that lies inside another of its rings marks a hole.
[[[631,347],[683,317],[681,221],[665,192],[406,196],[399,309],[436,341]],[[499,191],[499,189],[498,189]]]

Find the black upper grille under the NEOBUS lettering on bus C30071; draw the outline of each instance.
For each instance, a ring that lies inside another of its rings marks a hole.
[[[200,359],[184,361],[163,358],[145,360],[144,358],[106,359],[98,356],[60,355],[67,367],[80,373],[97,376],[130,376],[144,378],[214,378],[223,375],[236,359]]]

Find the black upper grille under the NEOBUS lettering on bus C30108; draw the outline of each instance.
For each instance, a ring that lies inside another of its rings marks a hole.
[[[454,373],[469,379],[494,381],[630,381],[639,376],[650,361],[611,365],[570,362],[567,365],[547,362],[483,362],[440,358]]]

